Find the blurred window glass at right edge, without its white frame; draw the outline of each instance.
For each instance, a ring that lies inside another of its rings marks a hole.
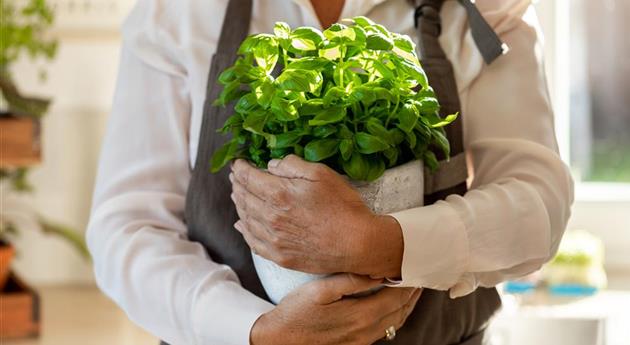
[[[630,182],[630,2],[570,1],[570,163],[582,181]]]

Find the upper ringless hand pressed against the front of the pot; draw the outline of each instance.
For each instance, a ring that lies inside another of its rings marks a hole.
[[[268,172],[232,165],[240,231],[258,255],[309,273],[399,277],[403,238],[391,216],[374,214],[332,169],[290,155]]]

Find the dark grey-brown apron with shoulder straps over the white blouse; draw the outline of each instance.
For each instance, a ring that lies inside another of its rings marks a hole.
[[[461,107],[453,68],[437,40],[441,29],[439,12],[443,0],[411,2],[416,7],[419,53],[423,67],[442,105],[441,112],[443,114],[458,112]],[[501,42],[474,5],[469,0],[461,2],[468,10],[469,22],[477,45],[486,62],[490,63],[501,54]],[[201,243],[215,262],[229,265],[245,289],[269,300],[254,269],[250,248],[233,228],[238,216],[230,199],[229,169],[223,169],[218,174],[209,172],[212,153],[228,139],[218,135],[216,129],[223,126],[225,119],[233,111],[231,107],[212,106],[213,100],[221,91],[221,86],[217,84],[217,76],[234,62],[238,46],[249,31],[251,9],[252,0],[230,0],[228,4],[217,52],[212,58],[208,76],[197,160],[188,189],[185,220],[191,241]],[[458,120],[447,126],[452,158],[448,162],[442,161],[440,169],[435,174],[427,173],[425,204],[431,204],[450,194],[463,195],[466,192],[467,169],[463,156],[461,119],[460,112]],[[500,300],[494,288],[479,288],[468,296],[457,299],[449,298],[446,291],[425,289],[406,324],[397,332],[396,339],[388,343],[481,344],[486,323],[499,306]]]

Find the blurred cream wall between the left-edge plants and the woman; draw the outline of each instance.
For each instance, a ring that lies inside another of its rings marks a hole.
[[[33,169],[35,194],[24,200],[50,220],[83,233],[87,224],[101,138],[116,79],[120,40],[116,33],[61,35],[48,80],[32,61],[14,69],[19,86],[52,97],[43,121],[43,163]],[[15,268],[33,283],[91,282],[89,263],[62,240],[24,224]],[[30,231],[33,230],[33,231]]]

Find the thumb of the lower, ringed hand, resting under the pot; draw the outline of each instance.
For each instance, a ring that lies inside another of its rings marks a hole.
[[[382,279],[372,279],[351,273],[340,273],[308,284],[309,293],[317,304],[330,304],[344,296],[365,292],[381,285]]]

